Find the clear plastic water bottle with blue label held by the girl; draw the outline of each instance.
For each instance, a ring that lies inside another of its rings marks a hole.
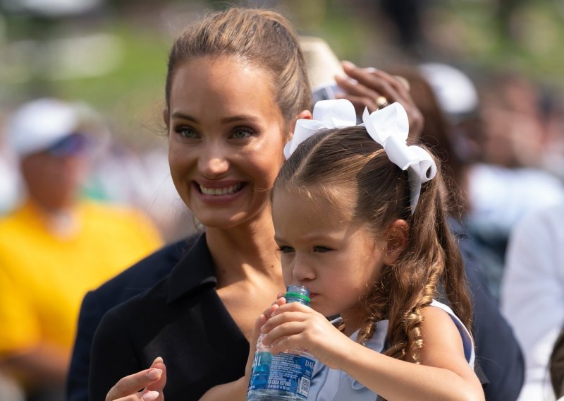
[[[284,297],[288,302],[300,302],[309,306],[309,290],[305,287],[290,285]],[[313,355],[302,351],[273,355],[269,347],[262,344],[263,337],[264,335],[260,335],[257,341],[247,401],[307,400],[315,364]]]

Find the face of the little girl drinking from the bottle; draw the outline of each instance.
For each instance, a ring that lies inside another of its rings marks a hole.
[[[272,217],[285,284],[305,285],[313,309],[324,316],[341,314],[348,327],[358,327],[362,300],[384,264],[386,242],[342,210],[284,189],[274,192]]]

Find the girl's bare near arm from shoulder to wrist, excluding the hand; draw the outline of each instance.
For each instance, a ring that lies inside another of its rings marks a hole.
[[[400,361],[353,342],[341,368],[387,400],[484,400],[458,328],[441,309],[422,310],[422,364]]]

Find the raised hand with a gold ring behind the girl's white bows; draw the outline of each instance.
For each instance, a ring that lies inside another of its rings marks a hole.
[[[399,102],[407,112],[410,121],[410,138],[417,138],[423,129],[424,119],[409,92],[406,82],[376,68],[360,68],[350,61],[343,61],[343,70],[350,77],[336,76],[337,85],[345,93],[337,97],[350,100],[357,115],[362,116],[364,107],[374,112],[393,102]]]

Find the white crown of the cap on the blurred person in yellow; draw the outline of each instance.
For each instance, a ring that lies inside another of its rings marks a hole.
[[[78,129],[79,112],[73,105],[43,98],[16,110],[6,127],[7,143],[18,157],[50,148]]]

